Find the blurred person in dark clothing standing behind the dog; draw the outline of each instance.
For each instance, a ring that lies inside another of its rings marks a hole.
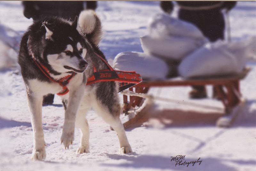
[[[62,17],[74,20],[85,9],[96,10],[97,1],[23,1],[23,14],[34,21],[45,17]],[[54,94],[44,96],[43,105],[52,104]]]

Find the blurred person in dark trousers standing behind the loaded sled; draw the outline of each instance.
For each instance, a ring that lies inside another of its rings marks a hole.
[[[222,10],[226,12],[235,7],[236,1],[177,1],[179,6],[178,17],[181,20],[196,25],[211,42],[224,39],[225,20]],[[173,10],[172,1],[161,1],[161,9],[171,14]],[[207,97],[205,86],[192,86],[190,98]],[[213,88],[213,97],[217,97]]]

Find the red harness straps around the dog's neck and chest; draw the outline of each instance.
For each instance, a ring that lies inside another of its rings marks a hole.
[[[62,87],[62,91],[57,93],[57,95],[62,96],[69,92],[69,89],[67,87],[67,84],[70,82],[70,80],[76,75],[75,72],[73,72],[71,75],[67,75],[63,78],[60,78],[59,80],[55,80],[50,76],[49,70],[41,63],[37,62],[35,58],[33,58],[34,62],[36,63],[37,67],[42,71],[42,73],[52,82],[56,82],[60,84]]]

